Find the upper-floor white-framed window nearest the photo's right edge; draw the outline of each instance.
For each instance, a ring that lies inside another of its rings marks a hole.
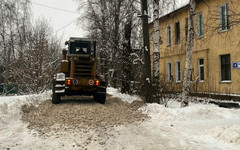
[[[223,29],[223,16],[222,16],[222,8],[225,7],[225,29]],[[229,3],[223,3],[222,5],[218,6],[218,31],[219,32],[224,32],[230,30],[230,22],[229,22]]]

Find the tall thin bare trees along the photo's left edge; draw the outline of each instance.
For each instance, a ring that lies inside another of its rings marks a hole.
[[[28,0],[0,0],[0,51],[2,67],[4,72],[1,76],[4,78],[4,93],[7,94],[7,88],[10,82],[14,82],[14,74],[12,74],[12,63],[16,59],[19,50],[19,43],[22,42],[22,34],[27,28],[24,23],[29,20],[29,1]],[[20,42],[21,41],[21,42]]]

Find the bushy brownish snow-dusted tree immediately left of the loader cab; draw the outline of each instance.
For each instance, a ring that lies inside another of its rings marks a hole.
[[[18,85],[25,89],[21,92],[38,93],[50,88],[53,74],[58,70],[61,50],[60,41],[51,33],[45,19],[37,20],[29,28],[27,47],[13,69]]]

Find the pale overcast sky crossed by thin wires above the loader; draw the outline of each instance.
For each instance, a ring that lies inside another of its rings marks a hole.
[[[46,19],[50,21],[51,26],[54,31],[58,31],[57,34],[59,37],[63,36],[62,41],[66,41],[69,37],[84,37],[85,33],[81,30],[80,27],[77,26],[75,22],[73,22],[80,14],[73,13],[77,12],[78,4],[73,0],[31,0],[32,1],[32,11],[34,18],[38,18],[44,16]],[[46,5],[46,6],[41,6]],[[68,11],[57,10],[53,8]],[[71,24],[70,24],[71,23]],[[70,24],[70,25],[69,25]],[[64,44],[64,43],[63,43]]]

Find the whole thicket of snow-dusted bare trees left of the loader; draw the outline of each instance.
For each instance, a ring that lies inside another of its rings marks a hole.
[[[31,22],[29,0],[0,0],[0,73],[4,93],[41,92],[57,70],[59,40],[45,20]]]

